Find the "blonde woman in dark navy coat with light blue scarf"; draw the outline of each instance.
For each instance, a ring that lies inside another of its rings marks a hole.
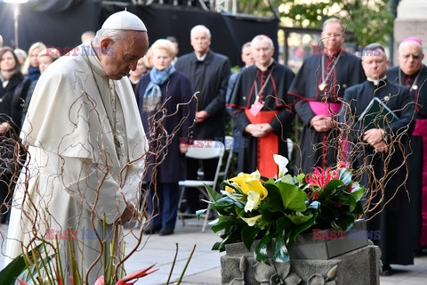
[[[159,39],[151,46],[153,69],[141,77],[135,95],[142,124],[149,140],[148,210],[151,215],[147,233],[173,233],[180,189],[186,177],[189,126],[195,116],[189,77],[174,69],[172,42]]]

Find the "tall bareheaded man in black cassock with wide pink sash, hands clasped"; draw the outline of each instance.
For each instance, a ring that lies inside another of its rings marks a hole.
[[[296,167],[303,173],[311,172],[312,167],[336,164],[340,142],[332,115],[340,110],[344,90],[366,78],[359,58],[342,50],[345,36],[341,20],[326,20],[321,37],[324,47],[318,46],[304,60],[289,88],[295,111],[302,119]]]

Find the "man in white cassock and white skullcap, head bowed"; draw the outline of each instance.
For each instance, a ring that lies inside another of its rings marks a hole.
[[[20,134],[28,155],[14,193],[5,265],[22,247],[42,239],[55,245],[58,237],[65,276],[68,242],[83,281],[103,275],[101,240],[109,244],[113,229],[121,232],[140,199],[147,142],[126,75],[148,45],[143,22],[117,12],[38,80]],[[113,248],[119,256],[120,246]]]

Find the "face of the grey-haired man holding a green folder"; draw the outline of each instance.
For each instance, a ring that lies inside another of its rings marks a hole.
[[[389,61],[387,60],[387,56],[379,49],[375,51],[367,51],[367,54],[362,56],[362,67],[368,78],[383,78],[388,66]]]

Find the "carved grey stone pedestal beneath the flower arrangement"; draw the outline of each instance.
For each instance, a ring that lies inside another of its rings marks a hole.
[[[264,265],[254,260],[243,243],[226,246],[221,257],[222,284],[379,284],[381,251],[369,245],[327,260],[292,259],[290,263]],[[285,281],[285,282],[283,282]]]

